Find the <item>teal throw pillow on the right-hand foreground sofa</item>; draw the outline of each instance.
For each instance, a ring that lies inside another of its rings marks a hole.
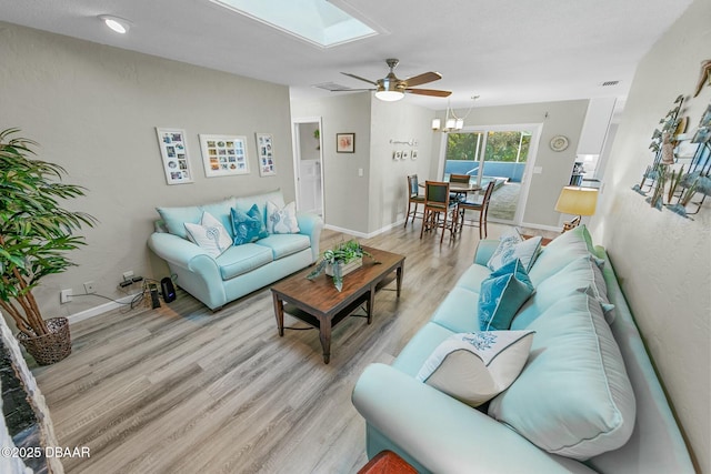
[[[481,282],[479,329],[505,331],[535,290],[520,260],[513,260]]]

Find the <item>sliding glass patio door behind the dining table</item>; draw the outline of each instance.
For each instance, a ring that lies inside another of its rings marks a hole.
[[[489,219],[520,225],[539,134],[539,124],[478,127],[448,133],[442,178],[469,174],[482,189],[493,181]]]

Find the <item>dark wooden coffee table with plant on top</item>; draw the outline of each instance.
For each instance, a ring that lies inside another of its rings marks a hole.
[[[363,256],[363,266],[343,276],[343,290],[333,286],[331,276],[322,274],[307,280],[311,269],[280,281],[271,288],[279,335],[284,335],[284,303],[294,309],[288,313],[319,330],[323,362],[331,359],[331,327],[367,303],[368,324],[372,322],[375,292],[392,281],[395,273],[398,297],[402,286],[404,255],[363,246],[373,259]],[[378,262],[378,263],[375,263]]]

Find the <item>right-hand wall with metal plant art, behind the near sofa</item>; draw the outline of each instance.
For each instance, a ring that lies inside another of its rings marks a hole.
[[[679,94],[690,95],[711,59],[711,2],[695,0],[638,67],[591,222],[661,374],[700,471],[711,473],[711,203],[692,220],[653,210],[634,193],[651,164],[652,132]],[[699,123],[711,87],[684,115]]]

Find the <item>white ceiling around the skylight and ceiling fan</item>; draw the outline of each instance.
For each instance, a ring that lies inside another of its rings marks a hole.
[[[340,72],[375,80],[388,72],[385,58],[399,58],[398,77],[440,72],[422,87],[453,91],[453,107],[480,95],[482,107],[624,98],[639,60],[692,0],[333,2],[384,33],[320,49],[209,0],[0,0],[0,20],[288,84],[299,98],[343,93],[313,88],[324,82],[368,87]],[[126,18],[131,30],[113,33],[99,14]],[[404,100],[447,107],[441,98]]]

